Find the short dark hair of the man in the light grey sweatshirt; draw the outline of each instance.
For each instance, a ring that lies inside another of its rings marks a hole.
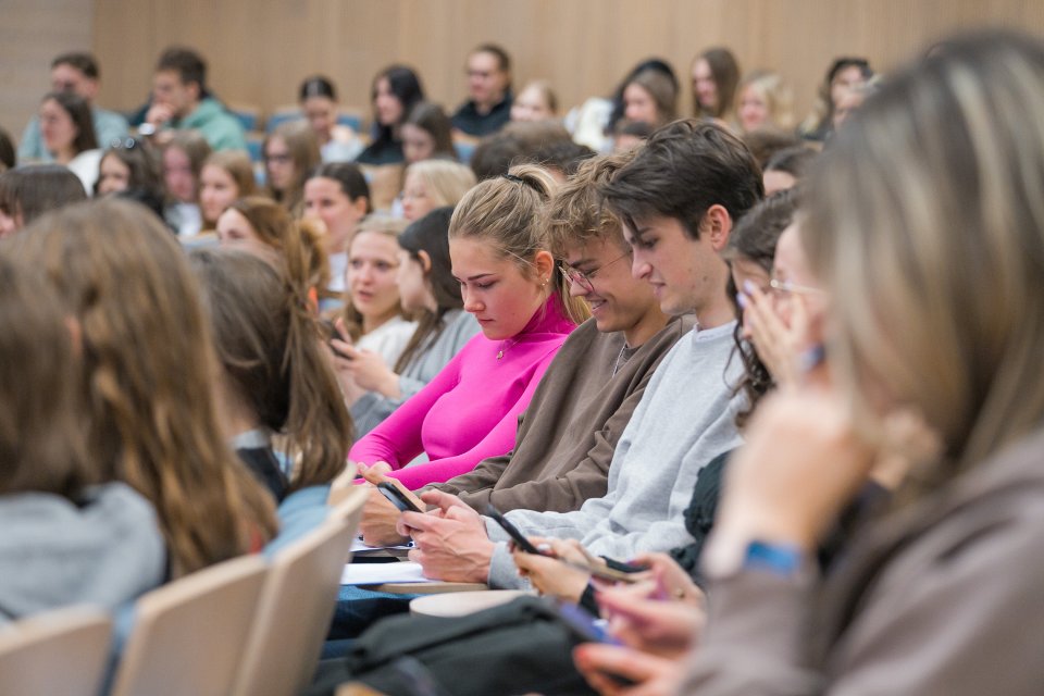
[[[724,207],[736,221],[765,188],[761,167],[739,138],[716,123],[688,119],[655,132],[599,194],[631,229],[638,220],[673,217],[698,239],[711,206]]]

